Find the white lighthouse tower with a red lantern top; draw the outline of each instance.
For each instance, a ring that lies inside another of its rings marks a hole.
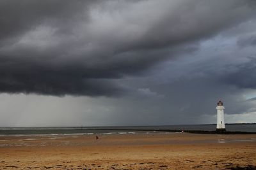
[[[216,131],[217,132],[223,132],[226,131],[225,129],[225,122],[224,122],[224,106],[223,106],[223,102],[219,101],[217,103],[217,127],[216,127]]]

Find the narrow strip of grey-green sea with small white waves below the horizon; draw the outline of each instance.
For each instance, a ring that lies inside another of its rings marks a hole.
[[[163,133],[164,131],[215,131],[216,125],[161,125],[115,127],[0,127],[0,136],[93,135]],[[226,124],[227,131],[256,132],[256,124]]]

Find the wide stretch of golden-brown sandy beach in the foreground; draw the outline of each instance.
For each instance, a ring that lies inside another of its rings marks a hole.
[[[255,134],[0,137],[0,169],[253,168],[255,153]]]

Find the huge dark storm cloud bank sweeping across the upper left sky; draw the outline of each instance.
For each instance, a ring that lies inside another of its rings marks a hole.
[[[0,16],[1,92],[113,96],[115,79],[195,51],[255,1],[1,1]]]

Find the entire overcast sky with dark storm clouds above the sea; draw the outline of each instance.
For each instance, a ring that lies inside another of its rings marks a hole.
[[[0,1],[0,127],[256,122],[256,1]]]

